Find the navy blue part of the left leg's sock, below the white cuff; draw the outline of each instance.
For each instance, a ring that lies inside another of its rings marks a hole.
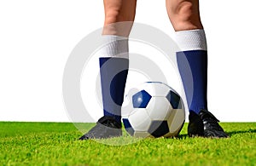
[[[102,57],[99,61],[104,116],[114,117],[120,122],[129,60],[125,58]]]

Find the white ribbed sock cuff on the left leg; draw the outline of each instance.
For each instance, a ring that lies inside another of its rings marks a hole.
[[[128,37],[102,35],[100,57],[129,58]]]

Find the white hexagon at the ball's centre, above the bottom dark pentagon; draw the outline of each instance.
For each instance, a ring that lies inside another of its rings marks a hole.
[[[172,112],[172,106],[166,97],[152,97],[146,110],[152,120],[167,120]]]

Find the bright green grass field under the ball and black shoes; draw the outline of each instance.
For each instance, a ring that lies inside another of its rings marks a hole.
[[[176,139],[105,143],[77,140],[73,123],[0,123],[0,165],[256,165],[256,123],[221,123],[228,139],[189,138],[185,123]],[[84,131],[94,124],[85,123]]]

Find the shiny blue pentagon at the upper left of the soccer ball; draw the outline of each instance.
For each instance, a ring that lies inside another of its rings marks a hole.
[[[132,96],[132,105],[134,108],[146,108],[150,99],[151,95],[142,90]]]

